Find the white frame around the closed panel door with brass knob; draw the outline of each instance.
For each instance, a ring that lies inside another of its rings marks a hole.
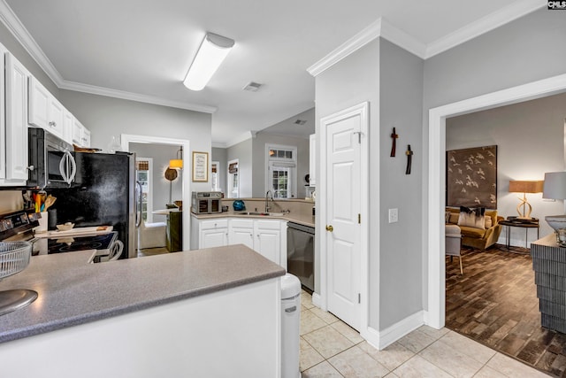
[[[319,184],[317,185],[317,204],[325,204],[327,193],[326,193],[326,185],[322,184],[326,182],[326,169],[327,169],[327,161],[326,161],[326,143],[327,143],[327,135],[326,135],[326,126],[330,123],[344,120],[346,118],[359,115],[361,117],[361,126],[360,131],[361,134],[361,143],[360,143],[360,214],[362,217],[362,226],[360,229],[360,296],[361,296],[361,319],[360,319],[360,335],[368,339],[370,338],[370,329],[369,329],[369,266],[370,266],[370,259],[369,259],[369,205],[370,205],[370,198],[369,198],[369,184],[370,184],[370,155],[369,155],[369,129],[370,129],[370,103],[365,101],[361,104],[356,104],[351,106],[347,109],[344,109],[340,112],[334,112],[331,115],[323,117],[320,119],[320,144],[317,148],[318,159],[320,161],[320,171],[319,171]],[[379,149],[379,146],[375,146],[375,148]],[[376,156],[379,156],[379,153],[376,153]],[[378,162],[379,166],[379,162]],[[379,184],[376,186],[379,188]],[[374,193],[374,197],[379,198],[379,192]],[[320,230],[321,234],[318,237],[318,241],[320,243],[319,251],[319,258],[320,258],[320,308],[322,310],[328,310],[328,259],[326,258],[325,252],[326,249],[326,234],[325,234],[325,220],[326,220],[326,208],[325,205],[317,205],[317,216],[319,216],[317,229]],[[375,251],[373,251],[373,255],[375,258],[379,258],[379,247],[376,247]],[[377,296],[374,296],[373,299],[379,301],[379,291],[377,292]]]

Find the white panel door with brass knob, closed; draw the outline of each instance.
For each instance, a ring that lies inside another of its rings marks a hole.
[[[360,329],[360,114],[326,124],[328,311]]]

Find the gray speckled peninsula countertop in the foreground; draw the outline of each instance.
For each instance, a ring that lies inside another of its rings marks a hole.
[[[91,251],[34,256],[0,290],[33,289],[27,307],[0,316],[0,343],[260,282],[285,269],[238,244],[88,264]]]

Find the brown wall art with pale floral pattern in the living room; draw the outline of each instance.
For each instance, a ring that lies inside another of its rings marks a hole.
[[[497,209],[497,146],[446,152],[447,206]]]

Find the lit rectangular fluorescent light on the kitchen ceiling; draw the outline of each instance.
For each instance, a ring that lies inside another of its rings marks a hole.
[[[201,90],[206,87],[212,75],[232,49],[233,43],[233,39],[207,33],[183,81],[185,87],[191,90]]]

